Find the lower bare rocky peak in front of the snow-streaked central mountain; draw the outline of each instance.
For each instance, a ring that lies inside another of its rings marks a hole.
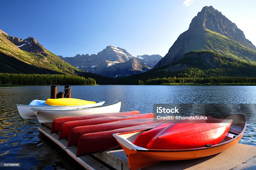
[[[102,76],[119,78],[139,74],[151,70],[141,59],[133,57],[127,62],[106,67]]]

